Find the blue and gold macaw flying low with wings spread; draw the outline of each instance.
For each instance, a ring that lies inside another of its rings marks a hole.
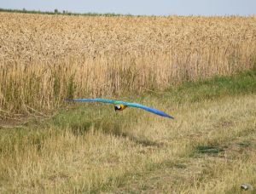
[[[157,109],[150,108],[148,106],[143,106],[143,105],[137,104],[137,103],[125,102],[125,101],[120,101],[120,100],[110,100],[110,99],[73,99],[73,100],[67,100],[67,101],[74,101],[74,102],[93,101],[93,102],[109,103],[109,104],[113,104],[114,105],[114,110],[115,111],[123,111],[128,106],[131,106],[131,107],[137,107],[137,108],[141,108],[141,109],[146,110],[146,111],[153,112],[154,114],[160,115],[162,117],[168,117],[168,118],[172,118],[172,119],[174,118],[174,117],[166,114],[166,112],[164,112],[164,111],[159,111]]]

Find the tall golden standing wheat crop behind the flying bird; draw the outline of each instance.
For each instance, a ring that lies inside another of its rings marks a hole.
[[[251,68],[256,18],[0,13],[1,116]]]

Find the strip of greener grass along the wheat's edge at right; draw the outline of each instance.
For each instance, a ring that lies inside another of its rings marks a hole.
[[[218,76],[198,82],[183,83],[181,86],[166,89],[164,96],[166,100],[183,103],[255,92],[256,70],[251,70],[231,77]]]

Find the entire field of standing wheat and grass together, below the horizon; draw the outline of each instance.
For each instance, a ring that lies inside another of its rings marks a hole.
[[[0,18],[1,193],[256,187],[255,16]]]

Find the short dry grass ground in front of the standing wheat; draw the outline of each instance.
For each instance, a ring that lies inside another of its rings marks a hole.
[[[79,104],[0,128],[0,191],[239,193],[255,186],[256,72],[184,84],[135,108]],[[135,98],[135,97],[134,97]]]

